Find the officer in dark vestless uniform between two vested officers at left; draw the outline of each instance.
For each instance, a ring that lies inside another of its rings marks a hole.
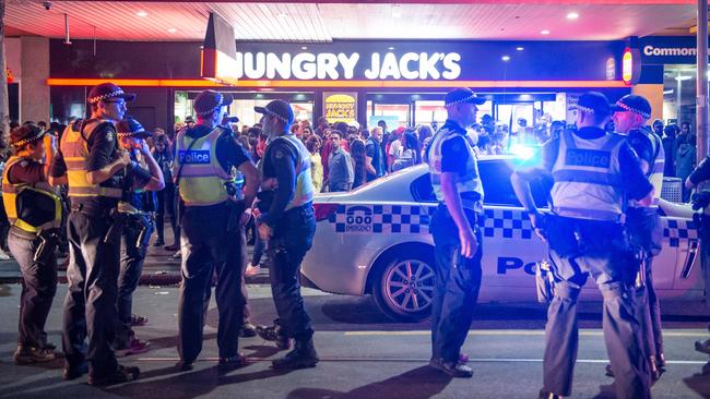
[[[132,298],[143,270],[147,244],[155,228],[156,191],[165,188],[163,171],[151,154],[145,138],[152,134],[133,118],[127,117],[117,125],[120,146],[131,156],[125,170],[121,202],[116,217],[120,219],[121,264],[118,278],[118,326],[116,349],[126,354],[142,353],[149,342],[138,339],[132,326]],[[137,317],[138,318],[138,317]],[[145,318],[145,317],[142,317]]]

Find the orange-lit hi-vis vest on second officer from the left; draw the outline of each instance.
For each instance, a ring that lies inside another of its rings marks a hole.
[[[106,196],[110,198],[120,198],[121,189],[103,188],[98,184],[91,184],[86,179],[86,159],[88,158],[88,138],[94,134],[96,128],[103,123],[111,121],[103,119],[92,119],[81,122],[79,131],[73,129],[73,123],[67,126],[64,134],[61,136],[59,147],[61,148],[64,164],[67,165],[67,179],[69,181],[69,196],[91,197]],[[88,132],[85,137],[82,131]]]

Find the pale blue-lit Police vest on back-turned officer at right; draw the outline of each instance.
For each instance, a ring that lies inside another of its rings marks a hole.
[[[626,137],[606,134],[581,138],[563,132],[553,167],[552,190],[557,215],[592,220],[619,220],[624,213],[624,181],[618,154]]]

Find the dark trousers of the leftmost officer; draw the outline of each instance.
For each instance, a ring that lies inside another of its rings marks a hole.
[[[47,342],[45,323],[57,293],[57,256],[52,253],[47,262],[35,262],[38,240],[12,232],[8,235],[8,245],[22,273],[17,344],[42,348]]]

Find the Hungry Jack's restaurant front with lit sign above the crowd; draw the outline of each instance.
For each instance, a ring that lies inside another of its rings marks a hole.
[[[139,94],[130,113],[147,126],[168,128],[191,114],[205,87],[230,93],[228,110],[257,122],[253,106],[280,98],[297,119],[357,121],[371,126],[442,122],[443,94],[468,86],[487,101],[480,116],[532,126],[568,120],[577,96],[589,89],[616,99],[630,93],[622,81],[617,41],[409,41],[335,40],[328,44],[237,43],[230,64],[236,85],[200,78],[201,44],[93,43],[50,46],[55,117],[85,110],[85,90],[115,81]],[[67,62],[66,60],[71,60]]]

